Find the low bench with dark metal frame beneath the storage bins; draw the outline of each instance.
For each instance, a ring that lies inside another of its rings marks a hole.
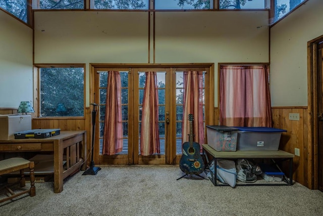
[[[208,145],[202,145],[203,148],[203,155],[205,156],[205,159],[207,161],[207,165],[210,166],[210,163],[214,161],[214,173],[211,175],[211,181],[214,186],[218,186],[217,184],[217,159],[218,158],[226,158],[226,159],[238,159],[238,158],[270,158],[274,162],[274,164],[280,169],[278,164],[274,159],[280,159],[280,160],[289,160],[289,180],[287,179],[286,175],[284,175],[284,181],[287,184],[256,184],[256,183],[249,183],[249,184],[239,184],[239,185],[293,185],[293,157],[294,154],[278,150],[278,151],[240,151],[237,150],[235,152],[233,151],[216,151],[213,148],[211,148]],[[209,161],[208,156],[212,157],[212,160]],[[211,172],[212,174],[212,172]]]

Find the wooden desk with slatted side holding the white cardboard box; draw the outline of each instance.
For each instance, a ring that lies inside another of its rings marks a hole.
[[[61,131],[45,139],[0,140],[0,152],[53,152],[54,193],[63,191],[63,180],[86,169],[86,131]],[[66,155],[66,167],[63,158]]]

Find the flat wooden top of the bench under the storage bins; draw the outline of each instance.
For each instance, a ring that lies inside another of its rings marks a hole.
[[[292,158],[294,154],[278,151],[216,151],[209,145],[202,145],[203,149],[214,158]]]

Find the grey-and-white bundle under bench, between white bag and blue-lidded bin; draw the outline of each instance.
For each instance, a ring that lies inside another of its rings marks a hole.
[[[240,182],[254,183],[257,181],[257,176],[250,171],[250,165],[245,159],[236,161],[237,179]]]

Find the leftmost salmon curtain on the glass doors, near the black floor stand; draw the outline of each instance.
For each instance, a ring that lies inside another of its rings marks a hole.
[[[119,71],[109,71],[107,76],[106,106],[104,120],[104,155],[122,151],[123,129],[121,113],[121,78]]]

